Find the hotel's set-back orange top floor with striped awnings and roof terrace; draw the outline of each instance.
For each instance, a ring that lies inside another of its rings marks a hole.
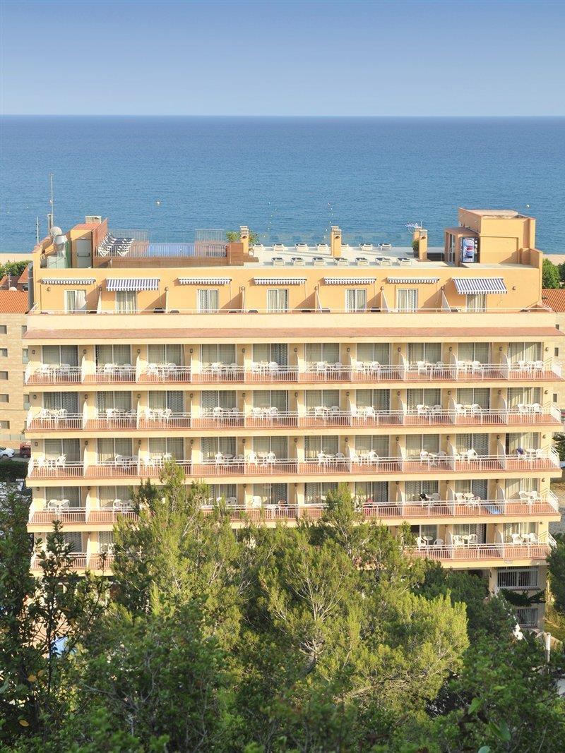
[[[60,314],[64,320],[55,316],[50,326],[83,330],[84,321],[66,315],[347,312],[359,315],[348,325],[372,328],[381,322],[366,315],[382,312],[448,313],[450,325],[462,312],[536,312],[536,323],[545,324],[535,220],[518,212],[460,209],[459,224],[445,230],[443,248],[429,248],[421,227],[414,228],[408,248],[359,238],[353,245],[339,227],[317,244],[300,236],[268,246],[250,243],[247,227],[233,235],[237,240],[227,241],[223,231],[201,230],[193,242],[155,243],[146,231],[111,230],[99,217],[87,217],[66,234],[55,228],[33,252],[31,313]],[[331,317],[308,318],[311,325],[316,320],[329,334]],[[101,321],[93,326],[111,326],[110,319]],[[234,317],[226,321],[226,328],[236,324]],[[435,321],[447,325],[443,317]],[[275,325],[272,319],[265,325],[262,317],[254,322],[245,326]]]

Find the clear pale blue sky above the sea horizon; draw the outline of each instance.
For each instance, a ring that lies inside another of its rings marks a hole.
[[[2,2],[5,114],[565,114],[565,2]]]

